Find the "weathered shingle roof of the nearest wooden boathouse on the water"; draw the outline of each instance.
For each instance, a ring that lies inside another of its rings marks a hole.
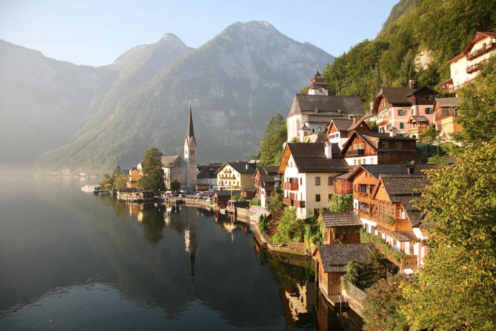
[[[346,264],[358,260],[367,262],[375,250],[374,244],[337,244],[317,247],[324,272],[345,271]]]

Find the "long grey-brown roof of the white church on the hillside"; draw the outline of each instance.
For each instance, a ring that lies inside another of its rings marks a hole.
[[[358,97],[297,94],[289,116],[295,114],[319,114],[321,116],[358,115],[362,113],[362,103]]]

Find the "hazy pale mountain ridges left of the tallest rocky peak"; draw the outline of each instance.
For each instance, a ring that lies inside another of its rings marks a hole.
[[[94,68],[46,58],[0,40],[0,153],[3,162],[33,162],[107,119],[119,100],[191,52],[178,37],[137,46]]]

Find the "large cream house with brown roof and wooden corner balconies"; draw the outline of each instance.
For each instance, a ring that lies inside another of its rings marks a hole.
[[[336,193],[334,176],[349,170],[339,152],[337,144],[328,142],[286,144],[278,169],[284,175],[283,203],[296,207],[298,218],[329,206]]]

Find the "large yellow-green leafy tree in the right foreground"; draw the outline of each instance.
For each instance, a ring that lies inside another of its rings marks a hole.
[[[404,289],[402,311],[416,328],[493,330],[496,139],[473,141],[455,156],[453,165],[427,172],[431,185],[418,205],[431,224],[429,255],[418,281]]]

